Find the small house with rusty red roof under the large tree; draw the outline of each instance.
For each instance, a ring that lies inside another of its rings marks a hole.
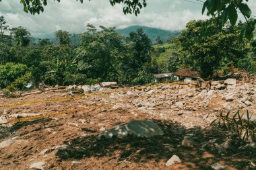
[[[178,81],[191,82],[192,80],[199,78],[198,71],[191,71],[191,68],[183,69],[173,73],[177,76]]]

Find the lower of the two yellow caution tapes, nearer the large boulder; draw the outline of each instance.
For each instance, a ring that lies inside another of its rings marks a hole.
[[[183,88],[183,89],[186,89],[186,88]],[[154,93],[154,94],[150,94],[150,95],[143,95],[141,97],[137,97],[136,99],[140,99],[140,98],[143,98],[143,97],[150,97],[150,96],[153,96],[153,95],[161,95],[161,94],[171,93],[173,91],[179,91],[179,90],[183,90],[183,89],[174,89],[174,90],[167,91],[167,92],[159,92],[159,93]],[[42,115],[42,116],[34,116],[32,118],[23,118],[23,119],[19,119],[19,120],[11,120],[11,121],[3,123],[3,124],[14,124],[14,123],[17,123],[17,122],[26,122],[26,121],[29,121],[29,120],[36,120],[36,119],[40,119],[40,118],[49,118],[49,117],[58,116],[58,115],[61,115],[61,114],[71,114],[71,113],[74,113],[74,112],[90,110],[90,109],[94,109],[94,108],[102,108],[102,107],[105,107],[105,106],[108,106],[108,105],[114,105],[116,103],[124,103],[126,101],[131,101],[131,100],[134,100],[134,98],[125,99],[123,101],[115,101],[115,102],[111,102],[111,103],[100,104],[100,105],[92,105],[90,107],[80,108],[80,109],[76,109],[76,110],[69,110],[69,111],[65,111],[65,112],[57,112],[57,113],[46,114],[46,115]]]

